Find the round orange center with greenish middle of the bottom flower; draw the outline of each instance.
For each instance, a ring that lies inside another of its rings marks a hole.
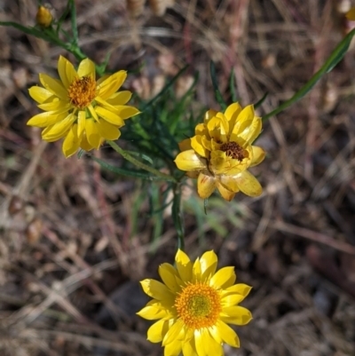
[[[189,284],[175,300],[177,315],[188,328],[209,328],[216,324],[222,311],[221,297],[206,284]]]

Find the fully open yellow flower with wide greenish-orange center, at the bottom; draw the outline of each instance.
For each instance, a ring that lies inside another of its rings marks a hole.
[[[217,256],[205,252],[193,263],[180,249],[176,267],[162,264],[160,281],[141,281],[154,299],[138,312],[148,320],[158,320],[149,329],[147,339],[162,342],[165,356],[222,356],[223,344],[239,347],[239,337],[227,324],[245,325],[252,319],[248,309],[238,304],[251,289],[234,284],[233,267],[216,273]]]

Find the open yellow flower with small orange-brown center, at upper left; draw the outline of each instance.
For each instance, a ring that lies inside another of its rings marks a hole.
[[[44,88],[29,89],[29,95],[44,113],[33,116],[28,125],[45,128],[45,141],[64,138],[62,150],[66,157],[79,147],[86,151],[99,149],[105,139],[119,138],[124,120],[139,114],[137,108],[125,105],[131,92],[118,91],[126,79],[125,71],[96,81],[95,64],[90,59],[83,59],[76,71],[60,56],[58,73],[60,80],[40,74]]]

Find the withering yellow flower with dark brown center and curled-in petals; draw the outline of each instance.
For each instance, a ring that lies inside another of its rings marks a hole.
[[[180,154],[175,160],[179,170],[197,178],[197,192],[207,199],[217,188],[227,201],[241,191],[250,196],[263,189],[248,168],[264,160],[264,150],[251,146],[262,128],[254,107],[241,108],[233,103],[225,114],[209,110],[204,123],[195,128],[195,136],[180,142]]]

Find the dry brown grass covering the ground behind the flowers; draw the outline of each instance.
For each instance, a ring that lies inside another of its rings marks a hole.
[[[270,93],[263,114],[327,59],[342,38],[346,2],[181,0],[161,18],[147,4],[132,18],[123,1],[76,3],[92,59],[113,51],[110,67],[146,62],[130,83],[143,96],[189,63],[190,74],[201,73],[196,101],[211,106],[213,59],[223,90],[234,68],[244,105]],[[58,13],[64,6],[51,4]],[[1,6],[0,20],[33,24],[34,1]],[[27,88],[39,72],[54,73],[62,51],[4,28],[0,48],[0,354],[161,355],[135,312],[146,303],[138,279],[156,276],[174,255],[169,214],[150,254],[146,202],[137,225],[130,214],[139,183],[64,159],[59,144],[43,144],[26,126],[36,113]],[[254,170],[262,197],[211,199],[202,241],[186,202],[189,253],[217,250],[221,265],[236,265],[239,280],[254,286],[245,303],[254,320],[238,329],[241,350],[227,355],[355,354],[353,55],[265,123],[258,145],[268,156]],[[107,147],[98,155],[117,160]]]

